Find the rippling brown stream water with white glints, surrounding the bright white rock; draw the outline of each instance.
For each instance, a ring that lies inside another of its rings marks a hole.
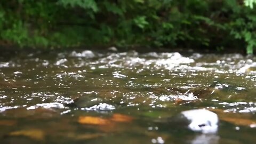
[[[0,54],[1,143],[254,143],[256,58],[109,51]],[[218,114],[218,133],[166,121]]]

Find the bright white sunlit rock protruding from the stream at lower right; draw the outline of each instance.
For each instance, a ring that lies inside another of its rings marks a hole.
[[[182,111],[169,119],[169,123],[185,124],[189,130],[202,133],[216,133],[218,122],[218,115],[206,109]]]

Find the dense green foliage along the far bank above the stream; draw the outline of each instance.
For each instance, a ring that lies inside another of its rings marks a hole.
[[[0,43],[21,47],[256,46],[256,0],[0,1]]]

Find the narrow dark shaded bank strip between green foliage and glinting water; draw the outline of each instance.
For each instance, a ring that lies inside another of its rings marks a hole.
[[[15,53],[29,53],[29,52],[42,52],[42,53],[51,53],[51,52],[61,52],[61,51],[83,51],[83,50],[92,50],[92,51],[106,51],[106,52],[127,52],[127,51],[136,51],[139,53],[147,53],[147,52],[179,52],[182,54],[186,53],[215,53],[215,54],[230,54],[230,53],[239,53],[242,55],[246,55],[245,49],[224,49],[224,50],[209,50],[209,49],[203,49],[203,48],[194,48],[194,49],[188,49],[188,48],[164,48],[164,47],[115,47],[115,46],[108,46],[108,47],[102,47],[102,46],[96,46],[96,47],[69,47],[65,49],[51,49],[51,48],[31,48],[26,47],[23,49],[17,48],[16,46],[0,46],[0,55],[10,55]],[[9,54],[7,54],[9,53]]]

